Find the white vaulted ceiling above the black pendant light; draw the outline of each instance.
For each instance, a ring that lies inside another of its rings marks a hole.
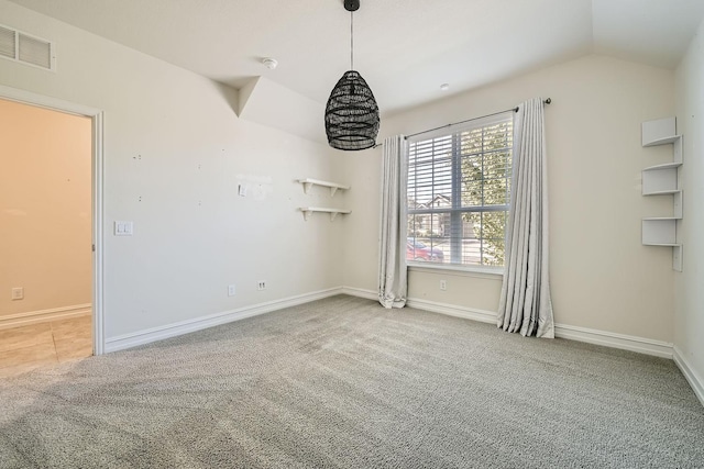
[[[324,104],[350,68],[342,0],[11,1],[234,88],[265,76]],[[704,0],[361,3],[354,67],[383,114],[591,53],[674,68],[704,19]]]

